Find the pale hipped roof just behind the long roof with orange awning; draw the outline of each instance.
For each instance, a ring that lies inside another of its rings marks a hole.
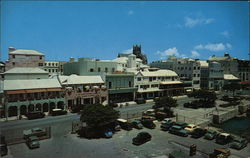
[[[38,67],[15,67],[6,71],[4,74],[34,74],[34,73],[35,74],[48,74],[48,72]]]

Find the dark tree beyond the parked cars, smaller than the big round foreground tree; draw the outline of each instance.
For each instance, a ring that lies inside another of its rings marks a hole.
[[[177,100],[173,99],[172,97],[164,96],[155,99],[155,106],[154,109],[164,108],[164,110],[169,111],[171,107],[177,106]]]

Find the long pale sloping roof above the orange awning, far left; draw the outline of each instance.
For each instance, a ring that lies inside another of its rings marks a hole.
[[[4,80],[4,90],[61,88],[57,79]]]

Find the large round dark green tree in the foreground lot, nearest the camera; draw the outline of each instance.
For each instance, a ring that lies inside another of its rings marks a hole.
[[[89,127],[102,127],[118,119],[120,113],[110,106],[102,104],[87,105],[84,107],[80,120]]]

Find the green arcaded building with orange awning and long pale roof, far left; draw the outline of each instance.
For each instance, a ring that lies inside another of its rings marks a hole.
[[[28,112],[67,109],[62,87],[57,79],[4,80],[5,117]]]

